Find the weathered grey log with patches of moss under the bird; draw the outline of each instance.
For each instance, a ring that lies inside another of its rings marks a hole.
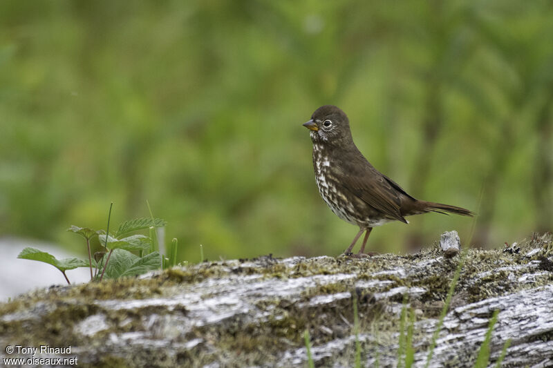
[[[414,316],[414,366],[422,367],[463,258],[430,367],[473,367],[494,311],[490,366],[510,339],[503,367],[551,367],[552,238],[532,235],[518,246],[461,255],[436,244],[366,259],[203,262],[50,287],[0,304],[0,354],[8,356],[7,345],[48,345],[71,346],[84,367],[301,367],[308,330],[316,366],[351,367],[356,302],[364,366],[398,365],[406,306]]]

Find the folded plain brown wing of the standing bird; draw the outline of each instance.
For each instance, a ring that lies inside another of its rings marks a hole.
[[[400,193],[404,191],[393,181],[382,175],[364,157],[343,162],[343,166],[335,167],[337,176],[347,177],[341,184],[351,193],[359,197],[374,209],[407,223],[400,213]],[[395,185],[393,185],[395,184]],[[400,191],[395,188],[400,188]]]

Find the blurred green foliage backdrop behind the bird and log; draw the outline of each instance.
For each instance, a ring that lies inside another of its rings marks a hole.
[[[301,126],[323,104],[406,191],[478,211],[474,244],[552,229],[551,1],[1,1],[0,22],[2,235],[84,254],[70,225],[149,200],[180,260],[337,255],[357,228]],[[368,249],[472,226],[410,222]]]

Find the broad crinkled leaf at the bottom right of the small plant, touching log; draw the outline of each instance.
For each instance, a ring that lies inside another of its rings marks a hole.
[[[104,256],[103,262],[105,262]],[[114,249],[109,258],[106,267],[105,278],[121,278],[141,275],[148,271],[160,269],[160,254],[158,252],[150,253],[143,258],[134,255],[124,249]]]

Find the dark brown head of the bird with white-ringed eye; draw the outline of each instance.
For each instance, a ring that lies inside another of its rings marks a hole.
[[[303,126],[311,130],[313,143],[343,145],[353,142],[348,115],[333,105],[317,108]]]

